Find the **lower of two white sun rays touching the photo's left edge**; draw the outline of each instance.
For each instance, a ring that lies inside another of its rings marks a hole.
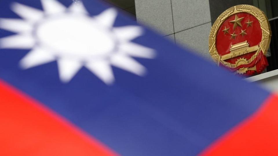
[[[3,49],[31,49],[35,45],[35,39],[31,34],[18,34],[0,39],[0,47]]]

